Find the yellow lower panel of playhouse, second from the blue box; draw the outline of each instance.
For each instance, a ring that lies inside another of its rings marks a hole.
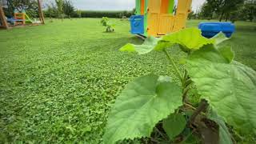
[[[172,14],[159,14],[158,35],[168,34],[174,26],[174,16]]]

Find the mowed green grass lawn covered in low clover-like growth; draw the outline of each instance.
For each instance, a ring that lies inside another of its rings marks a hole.
[[[164,54],[118,49],[142,43],[128,21],[54,20],[45,26],[0,30],[0,143],[101,143],[110,105],[122,87],[145,74],[172,74]],[[200,21],[189,21],[198,26]],[[226,42],[236,59],[256,70],[256,24],[237,22]],[[178,62],[179,50],[170,51]]]

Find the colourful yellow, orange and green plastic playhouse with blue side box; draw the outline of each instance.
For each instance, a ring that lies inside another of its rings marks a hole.
[[[130,17],[131,34],[160,37],[182,30],[192,0],[136,0],[136,15]]]

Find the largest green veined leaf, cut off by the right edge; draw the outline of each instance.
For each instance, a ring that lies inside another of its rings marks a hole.
[[[241,134],[256,134],[256,72],[213,45],[194,51],[186,68],[202,98]]]

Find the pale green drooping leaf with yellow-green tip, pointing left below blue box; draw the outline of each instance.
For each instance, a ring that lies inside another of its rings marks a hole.
[[[134,45],[131,43],[122,46],[120,51],[137,52],[138,54],[147,54],[154,49],[160,38],[148,37],[142,45]]]

